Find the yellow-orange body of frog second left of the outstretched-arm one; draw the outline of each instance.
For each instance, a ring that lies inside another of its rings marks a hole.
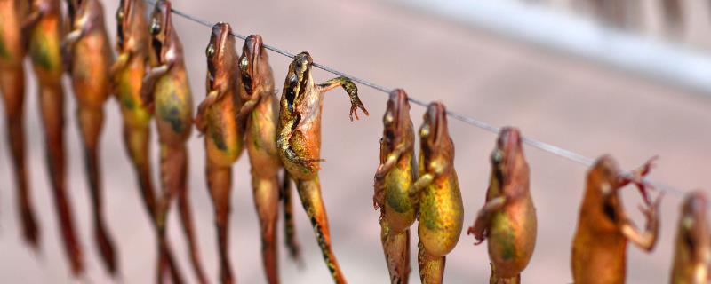
[[[205,149],[212,164],[229,167],[242,153],[242,130],[235,120],[235,93],[228,91],[207,110]]]

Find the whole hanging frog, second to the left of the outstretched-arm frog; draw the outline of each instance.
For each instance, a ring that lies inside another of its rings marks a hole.
[[[220,280],[233,283],[229,261],[229,214],[232,192],[232,164],[242,154],[244,123],[235,119],[242,106],[237,92],[237,53],[232,28],[227,23],[212,27],[207,56],[207,95],[197,107],[196,126],[204,134],[207,185],[215,210]]]

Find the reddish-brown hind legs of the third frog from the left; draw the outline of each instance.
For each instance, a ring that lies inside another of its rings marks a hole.
[[[92,198],[94,238],[99,247],[101,260],[107,266],[108,272],[116,275],[118,271],[116,246],[104,223],[100,180],[99,138],[104,122],[103,109],[80,107],[77,110],[77,120],[84,142],[84,167],[89,179],[89,193]]]

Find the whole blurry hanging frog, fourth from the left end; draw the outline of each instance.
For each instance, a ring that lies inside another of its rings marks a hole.
[[[124,146],[138,177],[143,205],[157,234],[156,193],[148,158],[151,114],[140,97],[143,75],[149,66],[156,64],[150,56],[145,11],[146,4],[142,0],[121,0],[119,3],[116,11],[118,57],[110,74],[124,121]],[[169,272],[172,277],[181,279],[170,246],[166,247],[165,254],[167,263],[161,264],[159,273]]]

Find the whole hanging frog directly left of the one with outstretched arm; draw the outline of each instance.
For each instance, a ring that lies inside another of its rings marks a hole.
[[[276,221],[279,213],[280,193],[290,194],[279,182],[283,169],[276,147],[276,109],[274,75],[269,66],[269,56],[259,35],[247,36],[239,60],[239,96],[244,106],[237,119],[246,122],[245,145],[252,166],[252,196],[254,208],[260,219],[261,254],[264,271],[270,284],[279,283],[276,250]],[[284,177],[286,180],[288,177]],[[287,181],[288,182],[288,181]],[[292,206],[291,196],[284,198],[285,208]],[[286,244],[292,259],[299,260],[291,211],[285,213]]]

